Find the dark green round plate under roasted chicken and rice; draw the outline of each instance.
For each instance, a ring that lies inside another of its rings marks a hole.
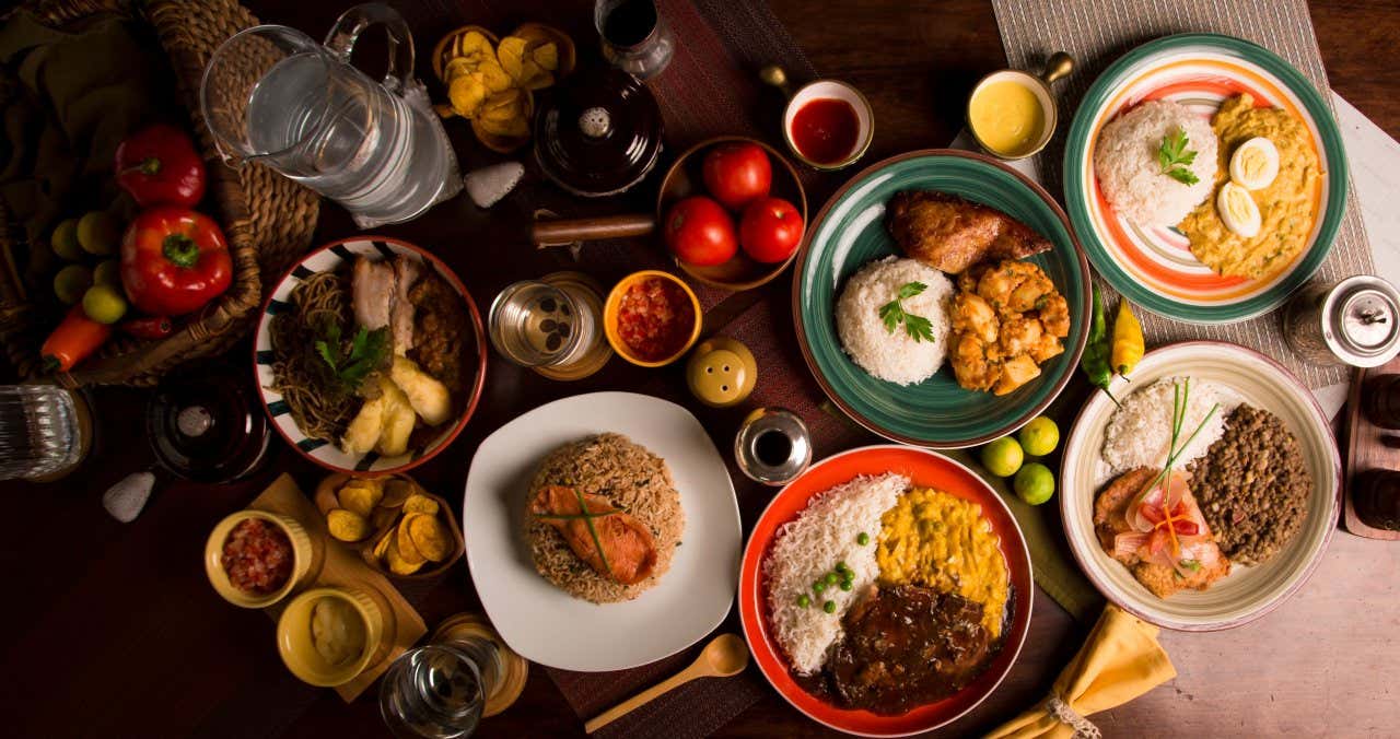
[[[902,386],[875,379],[841,349],[834,319],[840,288],[862,266],[897,253],[885,231],[885,203],[910,189],[994,207],[1054,244],[1030,262],[1046,270],[1070,302],[1071,326],[1064,353],[1042,365],[1039,378],[998,397],[962,389],[945,363],[932,378]],[[1064,389],[1088,337],[1089,263],[1064,211],[1019,172],[969,151],[911,151],[851,178],[812,221],[792,287],[798,343],[826,395],[865,428],[918,446],[973,446],[1021,428]]]

